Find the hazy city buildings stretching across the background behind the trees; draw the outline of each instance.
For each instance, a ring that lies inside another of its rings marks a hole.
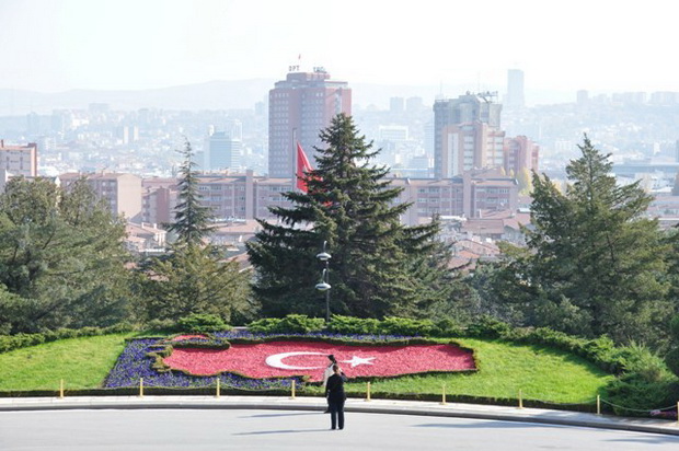
[[[563,159],[576,157],[579,137],[556,131],[556,123],[582,130],[582,117],[595,111],[642,108],[653,117],[657,108],[677,105],[679,96],[672,93],[648,99],[640,93],[589,96],[582,91],[573,104],[528,108],[523,72],[509,70],[504,102],[497,92],[481,91],[441,95],[431,106],[421,97],[394,96],[388,111],[355,108],[348,82],[333,80],[324,68],[292,67],[248,111],[118,112],[93,103],[87,112],[32,113],[24,124],[0,118],[0,131],[20,142],[0,141],[0,189],[19,175],[51,176],[64,185],[84,176],[112,211],[129,221],[130,248],[157,251],[165,245],[164,226],[174,217],[181,158],[174,150],[177,138],[185,137],[200,171],[203,201],[218,221],[215,240],[239,246],[256,231],[255,219],[275,219],[269,207],[290,206],[283,194],[295,189],[297,143],[314,165],[315,149],[324,147],[319,132],[345,113],[381,149],[377,164],[388,165],[392,185],[403,188],[398,201],[412,204],[403,222],[440,217],[442,238],[457,243],[457,257],[474,255],[473,261],[495,255],[494,240],[521,242],[530,198],[521,196],[519,174],[538,171],[563,178]],[[641,126],[619,129],[590,123],[599,136],[636,129],[646,142],[649,134]],[[622,152],[628,149],[620,141],[609,141],[620,144],[611,149],[617,175],[623,182],[646,177],[657,195],[649,211],[664,217],[679,216],[679,196],[670,189],[679,170],[679,146],[675,138],[671,148],[674,135],[667,128],[660,129],[665,135],[654,131],[661,139],[637,153]]]

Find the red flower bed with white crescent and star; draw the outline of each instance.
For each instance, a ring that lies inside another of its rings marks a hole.
[[[474,370],[469,350],[453,345],[347,346],[322,342],[235,344],[229,349],[175,348],[163,361],[195,375],[235,372],[250,378],[309,375],[321,381],[334,355],[349,378]]]

